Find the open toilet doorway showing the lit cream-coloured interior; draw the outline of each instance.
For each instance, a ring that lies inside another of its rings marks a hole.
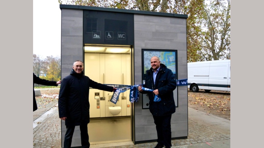
[[[131,85],[131,50],[130,46],[85,44],[84,75],[102,84]],[[113,92],[90,88],[91,144],[132,141],[129,92],[121,93],[114,104]],[[121,108],[120,113],[111,114],[111,107]]]

